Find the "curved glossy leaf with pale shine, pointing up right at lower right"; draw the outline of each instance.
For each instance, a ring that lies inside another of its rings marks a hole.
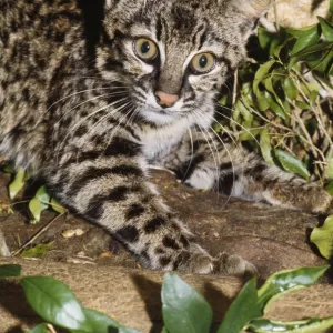
[[[301,268],[281,271],[271,275],[258,291],[260,309],[263,309],[275,295],[280,296],[286,291],[312,285],[327,269],[329,265],[320,268]]]

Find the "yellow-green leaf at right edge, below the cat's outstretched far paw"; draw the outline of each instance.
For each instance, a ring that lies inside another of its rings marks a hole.
[[[323,226],[314,228],[310,240],[316,245],[321,254],[330,260],[333,254],[333,215],[329,216]]]

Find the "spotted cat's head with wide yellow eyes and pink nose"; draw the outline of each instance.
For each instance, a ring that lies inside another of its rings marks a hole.
[[[270,0],[107,0],[101,74],[123,82],[141,119],[208,127]]]

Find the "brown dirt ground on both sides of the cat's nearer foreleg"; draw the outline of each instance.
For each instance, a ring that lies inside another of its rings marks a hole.
[[[168,172],[153,171],[152,175],[169,205],[212,254],[240,254],[258,266],[261,278],[282,269],[325,264],[307,241],[322,218],[198,192],[178,183]],[[2,204],[9,202],[9,182],[10,176],[0,173]],[[41,222],[32,225],[27,203],[18,204],[14,213],[2,212],[0,229],[11,253],[18,256],[23,249],[52,242],[44,256],[48,261],[140,269],[101,228],[69,213],[44,211]],[[81,235],[67,235],[78,230]]]

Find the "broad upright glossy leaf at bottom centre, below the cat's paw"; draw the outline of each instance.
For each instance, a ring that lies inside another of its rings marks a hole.
[[[162,285],[164,325],[172,333],[208,333],[213,312],[208,301],[174,273],[167,273]]]

